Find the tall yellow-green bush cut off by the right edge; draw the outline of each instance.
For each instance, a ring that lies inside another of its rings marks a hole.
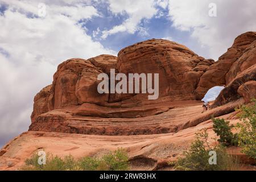
[[[242,123],[238,123],[240,129],[238,134],[238,145],[242,152],[251,158],[256,159],[256,100],[252,100],[252,105],[243,105],[239,109],[238,117]]]

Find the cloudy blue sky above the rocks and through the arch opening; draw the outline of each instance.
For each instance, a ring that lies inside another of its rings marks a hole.
[[[256,30],[255,10],[254,0],[0,0],[0,147],[27,131],[35,94],[63,61],[117,55],[151,38],[217,60]]]

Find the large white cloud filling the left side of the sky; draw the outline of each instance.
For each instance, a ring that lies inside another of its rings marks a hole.
[[[85,28],[77,24],[77,20],[98,16],[92,6],[58,6],[48,2],[46,16],[35,18],[35,1],[3,2],[8,9],[0,16],[2,139],[27,130],[35,94],[51,84],[62,61],[116,54],[94,42]]]

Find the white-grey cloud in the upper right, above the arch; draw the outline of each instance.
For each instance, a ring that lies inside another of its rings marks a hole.
[[[209,3],[216,3],[217,17],[208,15]],[[255,2],[250,0],[170,0],[168,8],[173,26],[191,31],[192,38],[209,47],[210,55],[203,56],[216,60],[236,36],[256,29]]]

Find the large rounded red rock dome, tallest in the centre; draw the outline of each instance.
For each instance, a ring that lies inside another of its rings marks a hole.
[[[214,61],[205,60],[187,47],[168,40],[151,39],[118,53],[121,73],[159,73],[159,96],[194,100],[201,75]]]

